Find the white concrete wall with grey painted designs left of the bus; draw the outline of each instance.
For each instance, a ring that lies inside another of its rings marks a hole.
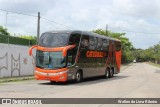
[[[27,46],[0,43],[0,78],[34,74],[34,59]]]

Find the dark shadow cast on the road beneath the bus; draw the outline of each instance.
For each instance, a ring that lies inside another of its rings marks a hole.
[[[77,83],[76,81],[67,81],[67,82],[45,82],[45,83],[39,83],[39,85],[60,85],[60,86],[65,86],[65,85],[90,85],[90,84],[96,84],[96,83],[101,83],[101,82],[109,82],[109,81],[114,81],[118,79],[123,79],[127,78],[129,76],[114,76],[112,78],[105,78],[105,77],[92,77],[92,78],[86,78],[83,79],[82,82]]]

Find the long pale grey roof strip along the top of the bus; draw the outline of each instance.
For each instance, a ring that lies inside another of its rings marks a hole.
[[[103,39],[109,39],[109,40],[112,40],[112,41],[119,41],[119,39],[116,39],[116,38],[111,38],[111,37],[107,37],[107,36],[104,36],[104,35],[100,35],[100,34],[97,34],[97,33],[93,33],[93,32],[89,32],[89,31],[80,31],[80,30],[55,30],[55,31],[48,31],[48,32],[44,32],[44,33],[68,33],[68,34],[71,34],[71,33],[83,33],[85,35],[89,35],[89,36],[94,36],[94,37],[98,37],[98,38],[103,38]]]

